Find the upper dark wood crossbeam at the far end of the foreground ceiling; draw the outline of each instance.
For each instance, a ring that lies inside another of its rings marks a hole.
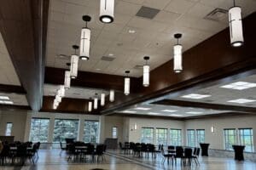
[[[65,69],[45,67],[44,83],[63,84]],[[138,78],[131,78],[131,93],[137,92]],[[78,77],[71,80],[71,86],[84,88],[124,90],[124,77],[102,73],[79,71]]]

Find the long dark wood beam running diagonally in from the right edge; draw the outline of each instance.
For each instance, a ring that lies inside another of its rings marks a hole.
[[[240,48],[230,45],[229,28],[199,43],[183,53],[183,71],[173,72],[173,60],[150,71],[150,86],[140,86],[136,98],[122,96],[107,105],[102,114],[154,99],[178,90],[191,88],[202,82],[212,82],[219,78],[234,76],[241,71],[256,68],[256,13],[243,19],[245,43]],[[139,82],[139,81],[138,81]]]

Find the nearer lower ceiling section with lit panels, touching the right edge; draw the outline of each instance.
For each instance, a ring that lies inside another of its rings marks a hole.
[[[251,82],[256,83],[256,75],[252,75],[249,77],[239,78],[230,82],[221,83],[218,85],[214,85],[208,88],[201,88],[199,90],[193,91],[193,94],[206,94],[210,95],[204,99],[186,99],[183,98],[183,95],[188,93],[180,94],[179,97],[166,96],[166,99],[174,99],[174,100],[183,100],[183,101],[195,101],[201,103],[209,103],[209,104],[220,104],[220,105],[237,105],[237,106],[247,106],[256,108],[256,87],[247,88],[247,89],[230,89],[230,88],[221,88],[224,85],[228,85],[234,82]],[[191,94],[191,93],[189,93]],[[228,102],[234,99],[253,99],[253,102],[239,104]]]

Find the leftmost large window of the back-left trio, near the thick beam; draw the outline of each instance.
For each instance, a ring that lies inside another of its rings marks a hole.
[[[32,118],[29,140],[32,142],[47,142],[49,119]]]

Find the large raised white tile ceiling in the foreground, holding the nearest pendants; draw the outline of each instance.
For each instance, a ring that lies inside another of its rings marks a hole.
[[[256,9],[255,0],[237,0],[243,17]],[[228,9],[231,0],[115,0],[114,22],[104,25],[99,20],[99,0],[50,0],[47,35],[46,65],[67,68],[73,54],[73,44],[79,44],[82,15],[92,20],[90,60],[80,61],[80,71],[124,75],[131,70],[131,77],[141,77],[143,56],[150,56],[151,70],[172,59],[173,34],[183,33],[183,51],[216,34],[228,26],[228,20],[205,20],[214,8]],[[142,7],[160,9],[153,20],[135,16]],[[135,31],[135,33],[129,33]],[[104,61],[102,56],[115,58]]]

